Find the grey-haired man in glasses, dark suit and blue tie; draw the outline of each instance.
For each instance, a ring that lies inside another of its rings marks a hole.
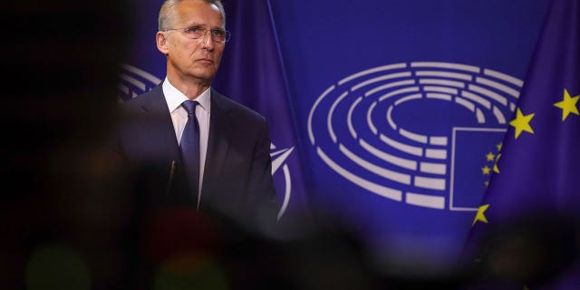
[[[167,0],[161,6],[156,43],[167,57],[167,76],[121,104],[117,142],[146,212],[179,207],[247,225],[275,220],[266,120],[211,88],[229,39],[225,24],[218,0]],[[195,102],[191,120],[189,101]],[[188,122],[197,123],[198,168],[187,162]]]

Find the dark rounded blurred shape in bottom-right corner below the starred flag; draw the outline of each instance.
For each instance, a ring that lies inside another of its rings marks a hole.
[[[469,289],[561,289],[552,285],[580,261],[578,221],[573,215],[537,212],[495,227],[470,267]]]

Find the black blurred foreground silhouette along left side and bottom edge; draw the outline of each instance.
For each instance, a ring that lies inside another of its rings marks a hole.
[[[21,1],[0,18],[3,289],[521,289],[575,275],[577,217],[507,225],[478,263],[434,274],[384,268],[398,261],[377,261],[324,213],[255,231],[183,208],[140,212],[138,180],[103,150],[133,8]]]

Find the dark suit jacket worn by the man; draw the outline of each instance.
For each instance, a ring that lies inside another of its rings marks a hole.
[[[145,211],[197,207],[181,166],[179,144],[161,85],[121,104],[116,150],[129,166]],[[264,117],[211,90],[208,152],[199,210],[252,223],[275,220],[270,134]]]

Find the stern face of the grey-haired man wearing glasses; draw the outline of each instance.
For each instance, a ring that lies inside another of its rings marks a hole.
[[[180,2],[177,8],[177,21],[170,28],[197,26],[208,30],[225,29],[216,5],[201,0],[187,0]],[[168,70],[177,73],[181,78],[194,77],[203,82],[211,82],[218,72],[225,43],[212,41],[209,31],[198,39],[187,37],[183,30],[170,31],[165,35],[166,52],[161,52],[168,55]]]

